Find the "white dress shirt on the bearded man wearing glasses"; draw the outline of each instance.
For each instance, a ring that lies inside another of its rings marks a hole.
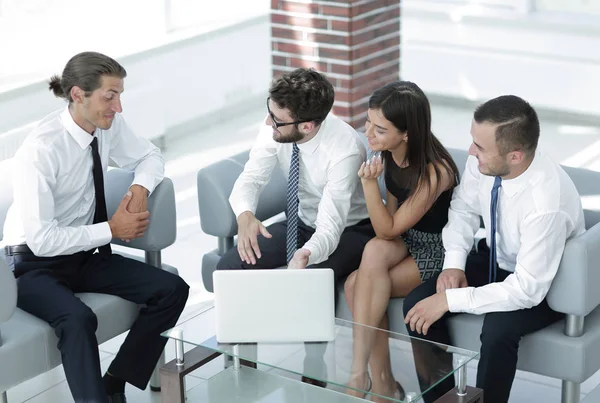
[[[356,130],[331,113],[316,136],[298,148],[298,216],[315,228],[301,247],[311,252],[308,264],[321,263],[337,248],[344,228],[368,217],[358,177],[366,150]],[[287,177],[291,157],[292,144],[273,140],[273,128],[264,125],[229,197],[236,217],[244,211],[256,212],[260,192],[273,169],[279,164]]]

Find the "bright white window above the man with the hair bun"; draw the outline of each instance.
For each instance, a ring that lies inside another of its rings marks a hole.
[[[269,12],[269,0],[0,0],[0,92],[84,50],[121,57]]]

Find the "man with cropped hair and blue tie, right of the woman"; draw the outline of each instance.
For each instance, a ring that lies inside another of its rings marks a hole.
[[[585,231],[577,189],[537,148],[539,134],[535,110],[519,97],[477,108],[471,156],[442,232],[443,271],[404,301],[409,333],[443,344],[452,344],[449,312],[485,314],[477,387],[486,403],[508,402],[521,338],[562,317],[546,294],[566,241]],[[486,238],[470,253],[480,217]],[[450,377],[425,401],[452,386]]]

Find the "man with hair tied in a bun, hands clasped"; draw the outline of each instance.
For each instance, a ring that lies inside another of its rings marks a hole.
[[[14,158],[14,203],[5,227],[6,260],[18,281],[19,308],[58,336],[77,403],[123,403],[125,382],[145,389],[189,286],[179,277],[113,254],[112,238],[144,236],[147,198],[164,177],[157,147],[136,136],[120,113],[127,73],[95,52],[75,55],[50,89],[68,106],[44,118]],[[135,172],[109,219],[104,174],[111,159]],[[98,253],[94,253],[95,251]],[[92,310],[74,294],[97,292],[145,305],[104,379]]]

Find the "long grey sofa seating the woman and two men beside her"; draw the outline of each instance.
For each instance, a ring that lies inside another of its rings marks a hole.
[[[457,166],[463,168],[468,154],[450,150]],[[217,249],[202,258],[202,278],[210,292],[212,273],[219,257],[233,247],[237,234],[236,219],[228,197],[238,175],[242,172],[248,152],[221,160],[198,172],[198,206],[200,222],[205,233],[218,239]],[[580,195],[600,195],[600,173],[565,167]],[[276,171],[261,194],[257,217],[267,220],[285,210],[286,182]],[[565,313],[565,319],[523,338],[519,350],[518,368],[562,380],[562,402],[579,402],[580,384],[600,369],[600,206],[585,210],[588,231],[571,239],[548,294],[552,309]],[[338,289],[336,316],[351,319]],[[395,298],[388,306],[390,328],[406,334],[402,313],[403,299]],[[479,351],[479,334],[483,316],[456,315],[451,319],[454,343],[461,348]]]

